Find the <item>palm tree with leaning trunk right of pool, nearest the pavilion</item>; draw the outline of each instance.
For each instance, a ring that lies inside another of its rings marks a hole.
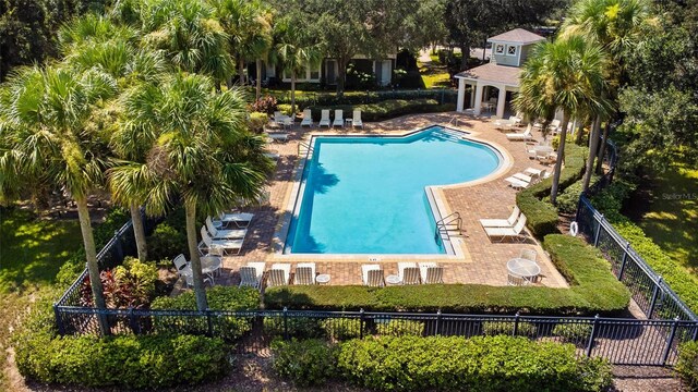
[[[555,204],[562,161],[567,139],[567,124],[577,112],[604,106],[605,57],[602,49],[581,36],[558,38],[534,47],[521,71],[517,106],[525,112],[549,119],[555,109],[563,111],[563,126],[557,147],[557,162],[551,189]]]

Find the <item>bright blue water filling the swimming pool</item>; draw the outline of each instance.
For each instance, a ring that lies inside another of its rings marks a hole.
[[[424,187],[483,177],[500,155],[433,126],[406,137],[316,137],[286,253],[443,254]]]

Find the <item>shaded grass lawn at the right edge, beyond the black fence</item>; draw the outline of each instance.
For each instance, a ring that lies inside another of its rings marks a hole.
[[[698,170],[672,166],[657,175],[638,224],[670,257],[698,275]]]

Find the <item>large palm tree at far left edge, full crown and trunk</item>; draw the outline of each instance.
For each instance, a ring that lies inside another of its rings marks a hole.
[[[87,196],[100,186],[108,154],[95,107],[116,93],[116,82],[97,70],[73,73],[58,66],[14,74],[0,93],[0,189],[49,183],[77,206],[94,303],[105,308]],[[5,182],[8,179],[8,182]],[[104,334],[109,333],[100,318]]]

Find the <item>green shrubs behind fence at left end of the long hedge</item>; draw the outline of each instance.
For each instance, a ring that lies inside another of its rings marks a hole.
[[[212,310],[251,310],[260,305],[260,293],[252,287],[214,286],[206,291],[206,297]],[[151,307],[165,310],[196,310],[196,297],[193,291],[188,291],[176,297],[156,298]],[[172,329],[192,334],[208,332],[208,320],[203,317],[154,316],[153,326],[157,332]],[[216,335],[232,341],[252,330],[252,318],[216,317],[213,319],[213,328]]]

